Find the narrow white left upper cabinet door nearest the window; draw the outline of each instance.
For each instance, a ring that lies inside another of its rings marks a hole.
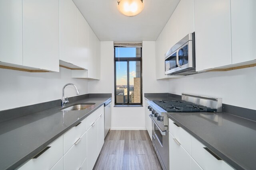
[[[100,40],[95,36],[95,78],[100,80]]]

